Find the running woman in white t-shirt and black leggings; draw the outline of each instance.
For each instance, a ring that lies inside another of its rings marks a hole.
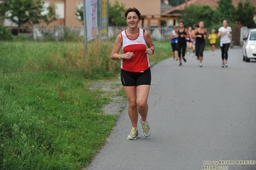
[[[232,29],[231,27],[228,27],[227,20],[223,20],[223,27],[220,27],[218,31],[219,33],[217,38],[221,37],[221,67],[228,67],[228,49],[231,43]]]

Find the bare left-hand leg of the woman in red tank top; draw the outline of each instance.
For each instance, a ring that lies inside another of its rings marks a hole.
[[[138,110],[137,110],[137,95],[136,86],[124,86],[124,91],[128,99],[128,114],[132,123],[132,127],[137,127]]]

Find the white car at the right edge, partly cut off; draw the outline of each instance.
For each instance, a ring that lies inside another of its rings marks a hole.
[[[256,59],[256,29],[250,29],[248,36],[243,39],[243,61],[250,62],[250,59]]]

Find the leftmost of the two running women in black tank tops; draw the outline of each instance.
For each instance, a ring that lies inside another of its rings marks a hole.
[[[176,35],[176,37],[178,38],[178,59],[180,60],[180,65],[178,66],[182,66],[182,58],[184,62],[187,62],[187,60],[185,59],[185,52],[187,48],[186,38],[189,36],[189,31],[187,31],[187,29],[185,28],[183,20],[180,21],[179,25],[180,28],[178,29],[178,34]]]

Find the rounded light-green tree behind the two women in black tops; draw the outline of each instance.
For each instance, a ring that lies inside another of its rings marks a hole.
[[[219,22],[219,13],[217,10],[212,9],[204,4],[191,4],[186,6],[182,11],[181,19],[185,22],[186,26],[193,26],[200,21],[205,23],[205,27],[211,27]]]

